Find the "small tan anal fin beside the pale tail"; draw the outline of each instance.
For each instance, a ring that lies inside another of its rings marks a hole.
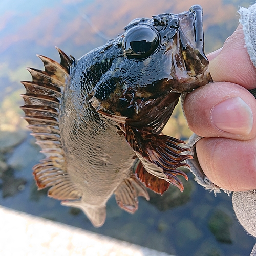
[[[117,205],[131,214],[138,209],[138,196],[143,196],[147,201],[150,200],[146,188],[134,174],[125,179],[114,194]]]

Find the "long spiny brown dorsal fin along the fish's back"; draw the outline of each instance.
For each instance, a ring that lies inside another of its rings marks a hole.
[[[65,87],[70,67],[75,61],[58,49],[60,63],[45,56],[37,55],[44,63],[45,70],[28,68],[32,81],[22,81],[26,88],[24,119],[36,138],[41,152],[47,157],[33,167],[33,174],[39,189],[51,187],[50,197],[59,200],[73,200],[81,197],[81,192],[71,181],[65,169],[65,157],[62,150],[59,131],[59,106],[62,96],[61,87]]]

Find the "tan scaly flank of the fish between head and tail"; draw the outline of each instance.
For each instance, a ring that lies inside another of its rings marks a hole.
[[[59,123],[66,170],[84,202],[105,204],[130,176],[135,153],[116,123],[91,109],[72,83],[64,95]]]

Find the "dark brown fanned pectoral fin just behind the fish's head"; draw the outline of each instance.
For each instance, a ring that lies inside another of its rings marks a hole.
[[[164,179],[183,191],[184,187],[176,176],[181,175],[185,179],[188,178],[184,172],[177,168],[188,166],[183,161],[192,158],[191,155],[183,153],[188,151],[187,148],[179,146],[180,143],[185,143],[184,141],[166,135],[138,130],[129,125],[125,125],[125,138],[136,151],[136,155],[147,172]],[[155,167],[152,168],[152,164],[157,167],[157,170],[155,170]]]

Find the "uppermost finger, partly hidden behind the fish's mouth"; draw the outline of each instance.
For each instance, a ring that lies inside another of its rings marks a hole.
[[[209,70],[214,81],[233,82],[246,89],[256,87],[256,68],[245,48],[242,25],[239,25],[225,41],[219,54],[213,53],[213,56],[209,57],[210,59],[215,57],[209,63]]]

